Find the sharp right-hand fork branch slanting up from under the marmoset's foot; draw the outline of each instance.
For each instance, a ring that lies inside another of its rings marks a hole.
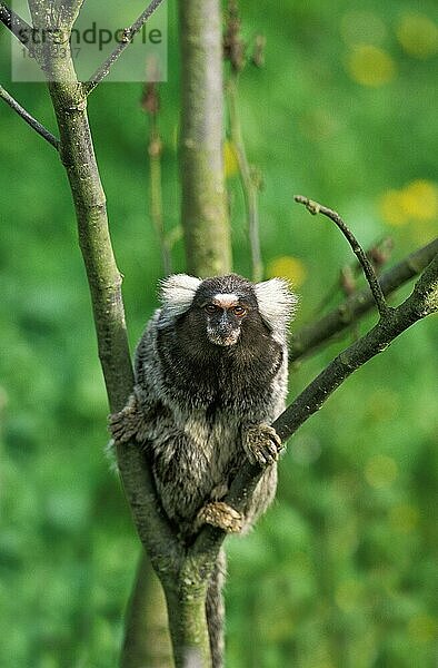
[[[388,310],[365,336],[346,348],[301,392],[301,394],[273,422],[278,435],[287,441],[313,415],[327,399],[357,369],[388,345],[417,321],[438,311],[438,255],[425,269],[416,283],[411,295],[397,308]],[[235,480],[225,501],[241,510],[248,494],[260,479],[261,470],[246,461]],[[225,533],[220,529],[205,527],[197,538],[192,550],[203,556],[207,563],[218,554]]]

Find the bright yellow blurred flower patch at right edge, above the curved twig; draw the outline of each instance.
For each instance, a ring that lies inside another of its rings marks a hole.
[[[379,210],[388,225],[434,220],[438,216],[438,188],[432,181],[417,179],[400,190],[387,190],[380,197]]]

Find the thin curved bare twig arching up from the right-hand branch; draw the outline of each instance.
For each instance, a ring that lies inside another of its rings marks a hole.
[[[313,216],[316,214],[322,214],[323,216],[327,216],[327,218],[330,218],[330,220],[332,220],[339,227],[339,229],[342,232],[344,236],[347,238],[356,257],[358,258],[358,261],[360,262],[360,264],[362,266],[365,276],[368,281],[372,296],[376,301],[380,317],[384,317],[385,315],[387,315],[389,306],[386,303],[385,295],[382,293],[382,289],[379,285],[379,282],[376,276],[376,272],[374,271],[372,265],[369,262],[364,248],[360,246],[359,242],[357,240],[357,238],[355,237],[352,232],[344,223],[344,220],[339,216],[339,214],[337,212],[334,212],[332,209],[328,208],[327,206],[323,206],[322,204],[318,204],[318,202],[312,202],[308,197],[303,197],[302,195],[296,195],[293,199],[296,202],[298,202],[298,204],[303,204],[306,206],[307,210],[310,212],[310,214],[312,214]]]

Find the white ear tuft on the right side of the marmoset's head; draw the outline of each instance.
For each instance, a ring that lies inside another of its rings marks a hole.
[[[275,337],[285,343],[298,302],[297,295],[291,292],[288,282],[281,278],[257,283],[255,292],[261,317]]]

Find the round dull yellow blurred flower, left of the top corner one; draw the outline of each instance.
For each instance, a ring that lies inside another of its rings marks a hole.
[[[392,58],[372,45],[354,47],[347,59],[350,77],[361,86],[378,87],[388,84],[396,73]]]

